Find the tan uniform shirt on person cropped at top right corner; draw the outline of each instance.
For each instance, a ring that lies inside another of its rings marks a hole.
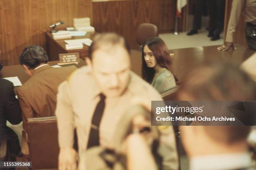
[[[233,42],[233,33],[236,31],[241,12],[246,22],[256,25],[256,0],[233,0],[226,42]]]

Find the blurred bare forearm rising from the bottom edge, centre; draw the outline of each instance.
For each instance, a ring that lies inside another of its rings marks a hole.
[[[128,136],[127,169],[157,170],[154,157],[142,134],[131,134]]]

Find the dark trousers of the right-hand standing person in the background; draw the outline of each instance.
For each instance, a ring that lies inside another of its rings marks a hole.
[[[209,7],[209,28],[215,34],[220,34],[224,26],[225,0],[207,0]]]

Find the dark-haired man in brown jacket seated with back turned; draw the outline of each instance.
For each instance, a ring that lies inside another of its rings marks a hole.
[[[20,64],[31,76],[16,91],[25,130],[28,118],[55,115],[57,88],[76,69],[75,66],[54,68],[47,63],[48,56],[41,46],[28,46],[20,55]]]

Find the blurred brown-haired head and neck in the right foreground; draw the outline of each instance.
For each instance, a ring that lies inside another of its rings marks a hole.
[[[256,83],[238,66],[212,64],[195,69],[179,89],[179,100],[256,100]],[[249,126],[181,126],[189,158],[248,152]]]

